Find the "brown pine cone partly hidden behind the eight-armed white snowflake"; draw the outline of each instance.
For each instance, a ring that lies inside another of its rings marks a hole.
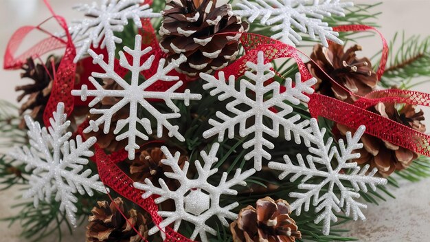
[[[121,90],[122,87],[120,85],[118,85],[117,83],[115,83],[114,80],[111,79],[106,79],[103,80],[103,88],[106,90]],[[105,97],[102,99],[102,101],[100,102],[100,104],[98,104],[98,106],[96,107],[97,109],[109,109],[110,107],[112,107],[113,105],[115,105],[117,102],[119,102],[120,99],[119,98],[115,98],[115,97]],[[100,148],[104,148],[109,152],[115,152],[115,151],[119,151],[121,148],[124,148],[128,143],[127,140],[121,140],[121,141],[117,141],[115,140],[116,135],[113,133],[113,131],[115,130],[115,126],[117,124],[117,122],[119,120],[125,119],[128,117],[128,104],[124,107],[122,107],[122,109],[120,109],[120,111],[117,111],[111,119],[111,126],[109,128],[109,132],[108,133],[104,133],[103,128],[104,128],[104,124],[99,126],[98,131],[91,131],[89,133],[84,133],[84,137],[86,139],[88,139],[89,137],[96,137],[97,138],[97,144],[98,146],[100,146]],[[88,116],[88,118],[90,120],[96,120],[98,117],[100,116],[100,114],[90,114]]]

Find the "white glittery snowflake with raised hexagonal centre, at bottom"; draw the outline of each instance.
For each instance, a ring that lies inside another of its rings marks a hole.
[[[181,169],[178,165],[179,152],[175,153],[174,156],[168,151],[166,146],[161,147],[166,159],[161,160],[166,166],[172,168],[172,172],[166,172],[164,175],[169,179],[176,179],[179,181],[181,186],[177,190],[170,190],[163,179],[159,179],[161,188],[154,186],[150,179],[145,179],[145,184],[135,183],[135,188],[144,190],[142,197],[145,199],[151,195],[159,195],[155,199],[155,203],[161,203],[167,199],[174,200],[176,209],[175,211],[159,211],[158,214],[165,219],[154,228],[149,230],[149,234],[154,234],[159,230],[163,230],[166,226],[174,223],[174,231],[179,229],[181,221],[188,221],[195,225],[194,232],[190,239],[195,239],[197,235],[200,235],[201,241],[208,241],[206,232],[210,234],[216,234],[216,230],[206,224],[211,217],[216,216],[226,227],[229,225],[227,219],[236,219],[237,214],[230,210],[238,206],[237,202],[231,203],[225,207],[220,207],[220,196],[221,195],[237,195],[237,191],[231,189],[232,186],[241,185],[245,186],[247,179],[256,170],[247,170],[244,173],[240,169],[236,170],[234,177],[231,177],[227,181],[227,173],[223,173],[220,178],[219,184],[214,186],[207,182],[207,179],[214,175],[218,168],[212,168],[212,166],[218,161],[216,152],[218,151],[219,144],[215,143],[212,145],[209,153],[201,151],[201,157],[203,158],[203,166],[198,160],[195,162],[197,174],[199,175],[196,179],[189,179],[187,177],[189,162],[185,162],[185,165]]]

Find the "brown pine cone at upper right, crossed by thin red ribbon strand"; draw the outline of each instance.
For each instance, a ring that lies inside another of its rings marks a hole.
[[[360,45],[350,47],[343,52],[343,45],[330,43],[328,48],[315,45],[310,58],[321,67],[333,80],[359,96],[365,96],[376,87],[376,74],[368,58],[357,58],[355,52],[361,50]],[[315,91],[348,103],[355,101],[343,89],[332,86],[330,80],[312,61],[306,63],[310,73],[317,78]]]

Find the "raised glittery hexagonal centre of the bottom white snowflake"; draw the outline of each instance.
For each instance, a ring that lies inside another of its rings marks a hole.
[[[185,212],[200,215],[210,208],[210,197],[201,189],[191,190],[184,199]]]

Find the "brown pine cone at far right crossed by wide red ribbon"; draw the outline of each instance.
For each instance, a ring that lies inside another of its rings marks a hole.
[[[422,123],[424,120],[422,110],[416,111],[414,105],[405,104],[398,111],[396,106],[394,103],[380,102],[372,107],[370,111],[400,124],[405,124],[416,131],[425,132],[425,124]],[[354,130],[341,124],[337,124],[337,128],[342,135],[345,135],[347,131],[354,133]],[[354,162],[370,164],[371,168],[378,168],[378,173],[383,177],[388,177],[394,170],[407,168],[418,157],[418,154],[414,151],[380,140],[372,135],[363,134],[361,142],[363,142],[363,148],[358,151],[361,157],[354,159]]]

